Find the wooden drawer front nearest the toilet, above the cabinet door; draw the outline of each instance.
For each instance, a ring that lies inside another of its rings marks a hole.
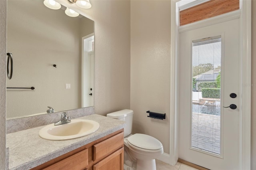
[[[124,132],[116,134],[93,146],[93,160],[100,160],[124,146]]]

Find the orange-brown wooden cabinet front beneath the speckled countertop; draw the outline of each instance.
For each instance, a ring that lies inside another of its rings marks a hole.
[[[124,169],[124,132],[118,130],[32,170],[100,170],[101,168]]]

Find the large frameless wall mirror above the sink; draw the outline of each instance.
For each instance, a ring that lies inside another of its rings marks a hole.
[[[94,21],[43,0],[7,1],[7,119],[94,105]],[[20,89],[30,88],[35,89]],[[13,89],[17,88],[17,89]]]

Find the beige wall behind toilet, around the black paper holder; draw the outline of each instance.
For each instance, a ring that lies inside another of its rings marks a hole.
[[[170,148],[171,2],[131,1],[131,107],[133,133],[154,136]],[[146,111],[166,113],[165,120]]]

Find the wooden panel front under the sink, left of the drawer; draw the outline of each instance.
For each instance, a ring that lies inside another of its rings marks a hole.
[[[82,150],[68,158],[64,158],[44,168],[44,170],[84,170],[86,166],[88,166],[88,149]]]

